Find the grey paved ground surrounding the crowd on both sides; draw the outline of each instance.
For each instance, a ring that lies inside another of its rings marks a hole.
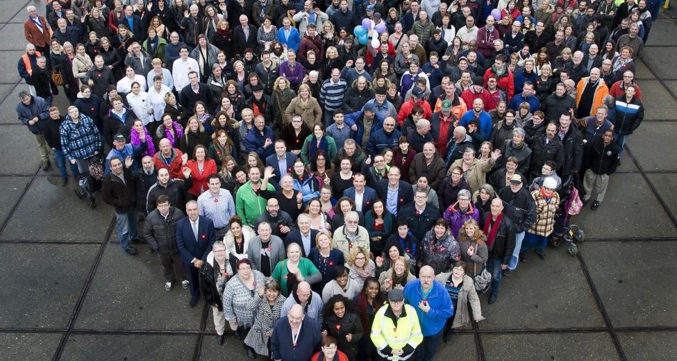
[[[155,255],[112,244],[112,209],[95,210],[40,170],[16,119],[24,8],[0,1],[0,360],[244,360],[217,346],[211,312],[165,292]],[[503,280],[487,319],[458,330],[436,360],[677,360],[677,19],[654,22],[638,83],[646,119],[628,140],[607,199],[583,210],[580,255],[547,249]],[[658,45],[660,44],[660,45]],[[65,97],[56,105],[65,112]],[[261,358],[260,358],[261,359]]]

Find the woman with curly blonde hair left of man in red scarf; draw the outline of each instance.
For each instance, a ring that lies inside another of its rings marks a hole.
[[[472,278],[484,269],[489,258],[486,240],[487,237],[474,219],[465,221],[458,233],[461,260],[467,263],[466,271]]]

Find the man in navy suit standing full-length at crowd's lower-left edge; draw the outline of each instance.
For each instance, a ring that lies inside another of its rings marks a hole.
[[[190,307],[200,299],[199,270],[205,264],[216,233],[211,219],[199,215],[197,201],[185,205],[188,217],[176,222],[176,245],[190,281]]]

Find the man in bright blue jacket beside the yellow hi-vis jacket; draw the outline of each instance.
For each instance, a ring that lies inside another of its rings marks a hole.
[[[421,267],[419,279],[407,283],[404,301],[415,308],[423,332],[423,342],[416,348],[415,359],[431,361],[442,341],[446,319],[453,317],[451,298],[444,285],[435,280],[433,267]]]

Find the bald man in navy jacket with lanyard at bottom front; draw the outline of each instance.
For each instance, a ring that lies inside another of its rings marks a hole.
[[[319,351],[320,343],[321,333],[317,322],[306,317],[303,306],[293,305],[287,315],[280,317],[273,328],[270,356],[276,361],[310,360],[312,355]]]

